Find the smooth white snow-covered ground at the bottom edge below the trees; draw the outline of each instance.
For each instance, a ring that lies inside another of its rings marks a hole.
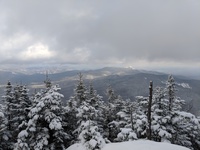
[[[67,150],[86,150],[81,144],[74,144]],[[189,150],[169,143],[137,140],[131,142],[106,144],[102,150]]]

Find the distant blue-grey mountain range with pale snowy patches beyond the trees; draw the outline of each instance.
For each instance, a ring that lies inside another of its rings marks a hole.
[[[106,88],[110,85],[115,93],[121,95],[124,99],[135,99],[135,96],[148,96],[149,82],[153,81],[153,86],[165,86],[168,74],[135,70],[131,68],[102,68],[97,70],[73,70],[61,73],[49,74],[49,78],[53,84],[59,84],[62,88],[61,93],[65,96],[65,101],[73,95],[73,89],[78,80],[78,73],[83,74],[84,83],[89,86],[93,83],[98,94],[106,100]],[[45,74],[23,74],[14,72],[0,71],[0,94],[3,95],[4,86],[7,81],[15,84],[25,84],[30,89],[30,93],[34,89],[39,90],[44,87]],[[190,108],[194,114],[200,114],[200,80],[191,79],[184,76],[174,76],[176,87],[178,89],[177,96],[186,100],[185,109]],[[192,107],[191,107],[192,106]]]

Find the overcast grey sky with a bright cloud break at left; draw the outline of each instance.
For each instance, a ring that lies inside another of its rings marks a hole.
[[[200,68],[199,0],[1,0],[1,65]]]

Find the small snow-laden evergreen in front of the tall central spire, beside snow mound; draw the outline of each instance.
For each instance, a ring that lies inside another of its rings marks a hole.
[[[88,150],[101,149],[105,141],[99,132],[97,124],[98,110],[91,106],[90,103],[82,102],[78,108],[77,117],[79,119],[78,139]]]

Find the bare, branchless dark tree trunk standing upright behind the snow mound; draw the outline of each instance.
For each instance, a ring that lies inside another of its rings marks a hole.
[[[152,94],[153,93],[153,82],[150,81],[149,86],[149,104],[148,104],[148,129],[147,129],[147,138],[151,140],[151,106],[152,106]]]

